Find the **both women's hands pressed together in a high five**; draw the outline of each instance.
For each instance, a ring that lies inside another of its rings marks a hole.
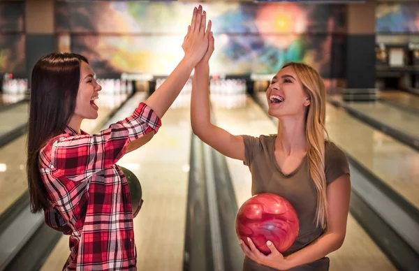
[[[182,44],[185,57],[192,61],[193,66],[208,65],[212,52],[214,52],[212,22],[208,21],[207,29],[205,29],[206,21],[207,13],[203,7],[199,5],[198,8],[194,8],[191,25],[188,27],[188,33]]]

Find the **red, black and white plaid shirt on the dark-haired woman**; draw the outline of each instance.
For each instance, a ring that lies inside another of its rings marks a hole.
[[[67,127],[39,153],[52,210],[45,223],[70,235],[64,270],[136,270],[128,183],[115,163],[129,142],[157,132],[161,120],[145,103],[131,117],[89,135]]]

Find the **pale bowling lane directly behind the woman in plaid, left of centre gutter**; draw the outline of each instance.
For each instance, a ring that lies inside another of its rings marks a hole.
[[[112,121],[131,114],[133,108]],[[190,140],[189,109],[170,108],[159,133],[118,162],[142,185],[144,204],[134,219],[138,270],[182,270]],[[61,270],[68,255],[68,236],[63,236],[41,270]]]

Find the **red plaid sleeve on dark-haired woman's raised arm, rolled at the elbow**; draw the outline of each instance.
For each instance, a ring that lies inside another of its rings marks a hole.
[[[125,154],[129,142],[156,133],[161,120],[145,103],[140,103],[133,115],[110,125],[94,135],[63,137],[50,140],[40,155],[50,158],[55,177],[85,180],[105,168],[110,168]]]

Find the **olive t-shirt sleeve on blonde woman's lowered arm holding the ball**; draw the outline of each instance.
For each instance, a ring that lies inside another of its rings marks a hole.
[[[327,142],[325,146],[325,175],[329,185],[341,175],[350,174],[346,154],[334,143]]]

